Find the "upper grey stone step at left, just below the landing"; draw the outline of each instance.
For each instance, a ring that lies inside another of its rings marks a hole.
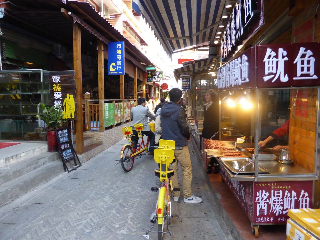
[[[22,175],[36,170],[37,168],[49,164],[57,159],[61,159],[59,152],[44,152],[39,155],[24,159],[23,161],[4,166],[0,168],[0,185],[13,179],[19,178]]]

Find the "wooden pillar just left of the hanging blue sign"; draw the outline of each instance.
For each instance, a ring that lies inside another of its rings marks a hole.
[[[98,39],[99,131],[104,132],[104,58],[103,42]]]

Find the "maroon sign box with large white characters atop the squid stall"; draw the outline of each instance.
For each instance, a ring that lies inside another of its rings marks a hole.
[[[320,43],[252,46],[218,69],[218,88],[320,86],[319,51]]]

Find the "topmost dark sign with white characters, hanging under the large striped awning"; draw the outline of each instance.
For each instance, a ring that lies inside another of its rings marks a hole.
[[[249,39],[264,24],[263,0],[239,0],[221,38],[222,61],[235,52],[242,41]]]

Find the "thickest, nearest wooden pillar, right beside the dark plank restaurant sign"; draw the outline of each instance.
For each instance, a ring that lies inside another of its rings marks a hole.
[[[76,153],[84,153],[83,143],[83,115],[82,115],[82,65],[81,65],[81,29],[78,23],[73,24],[73,69],[76,72],[75,80],[78,89],[76,99],[78,103],[76,121]]]

